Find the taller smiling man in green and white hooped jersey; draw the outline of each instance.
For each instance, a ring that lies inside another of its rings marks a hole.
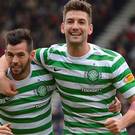
[[[64,134],[127,135],[125,128],[135,122],[134,76],[120,54],[87,42],[93,32],[91,5],[85,0],[69,0],[61,32],[66,43],[37,49],[35,61],[55,78]],[[124,116],[109,111],[117,92],[131,103],[132,109]]]

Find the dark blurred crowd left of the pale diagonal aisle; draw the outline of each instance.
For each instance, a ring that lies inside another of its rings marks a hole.
[[[63,5],[68,0],[0,0],[0,46],[6,30],[25,27],[31,30],[35,47],[63,42],[60,33]],[[93,7],[94,33],[103,30],[128,0],[88,0]],[[91,39],[91,38],[90,38]]]

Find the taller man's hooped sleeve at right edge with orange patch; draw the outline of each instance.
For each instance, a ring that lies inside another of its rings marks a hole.
[[[135,95],[135,78],[125,59],[118,55],[111,67],[113,85],[124,98]]]

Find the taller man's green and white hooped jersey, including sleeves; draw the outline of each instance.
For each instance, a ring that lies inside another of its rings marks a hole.
[[[108,107],[117,92],[135,94],[135,80],[124,58],[111,50],[90,45],[82,57],[72,57],[67,45],[37,49],[35,59],[54,76],[62,100],[65,135],[112,135],[107,118],[120,118]],[[121,131],[120,135],[126,135]]]

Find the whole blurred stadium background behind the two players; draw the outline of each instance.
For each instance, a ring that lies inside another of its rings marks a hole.
[[[0,0],[0,56],[4,53],[3,34],[14,28],[28,28],[35,48],[65,42],[60,33],[63,5],[68,0]],[[87,0],[93,8],[94,33],[89,42],[121,53],[135,73],[135,0]],[[119,96],[123,107],[128,103]],[[53,95],[55,135],[62,135],[63,113],[59,95]],[[128,128],[135,134],[135,125]]]

